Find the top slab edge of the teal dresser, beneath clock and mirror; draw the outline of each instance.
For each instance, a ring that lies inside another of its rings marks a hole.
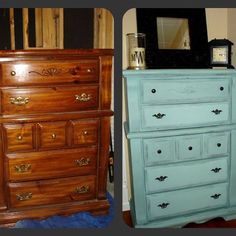
[[[236,74],[235,69],[147,69],[147,70],[124,70],[124,76],[135,76],[137,75],[153,77],[158,75],[232,75]]]

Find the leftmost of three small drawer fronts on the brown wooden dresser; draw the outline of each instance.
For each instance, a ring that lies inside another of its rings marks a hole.
[[[33,124],[4,124],[3,128],[7,152],[34,149]]]

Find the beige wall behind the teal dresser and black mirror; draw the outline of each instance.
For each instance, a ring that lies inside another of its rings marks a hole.
[[[206,20],[207,20],[207,33],[208,33],[208,41],[214,38],[228,38],[232,42],[234,42],[235,46],[233,46],[232,62],[236,67],[236,30],[235,30],[235,22],[236,22],[236,8],[228,9],[228,8],[206,8]],[[126,54],[126,34],[127,33],[135,33],[137,32],[137,24],[136,24],[136,11],[135,8],[128,10],[123,16],[123,69],[127,68],[127,54]],[[124,98],[123,98],[124,104]],[[123,105],[123,120],[126,118],[125,115],[125,104]],[[127,152],[127,141],[124,137],[124,156],[123,156],[123,164],[126,165],[126,173],[127,173],[127,183],[129,188],[129,168],[128,168],[128,152]]]

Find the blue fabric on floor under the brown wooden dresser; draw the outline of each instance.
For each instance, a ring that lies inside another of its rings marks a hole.
[[[114,200],[110,193],[107,199],[111,205],[108,215],[93,216],[89,212],[80,212],[71,216],[52,216],[45,220],[21,220],[14,228],[104,228],[114,217]]]

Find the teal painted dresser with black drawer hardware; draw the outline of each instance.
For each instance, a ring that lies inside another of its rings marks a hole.
[[[123,76],[135,227],[236,219],[236,71]]]

